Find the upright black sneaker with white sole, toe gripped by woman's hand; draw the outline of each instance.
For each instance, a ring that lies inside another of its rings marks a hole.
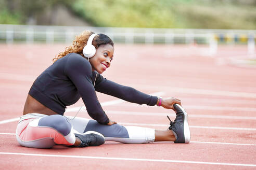
[[[172,130],[176,138],[174,143],[188,144],[190,141],[190,131],[188,127],[187,113],[179,104],[174,104],[173,107],[176,112],[176,119],[172,122],[171,119],[168,116],[167,117],[171,121],[169,129]]]

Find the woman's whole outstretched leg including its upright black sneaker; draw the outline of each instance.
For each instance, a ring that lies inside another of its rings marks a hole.
[[[79,133],[96,131],[103,134],[106,141],[118,141],[125,144],[143,144],[153,141],[174,141],[174,143],[189,143],[190,132],[186,111],[180,105],[174,105],[176,119],[171,121],[166,131],[147,127],[122,126],[120,124],[100,124],[95,120],[76,117],[70,119],[74,129]]]

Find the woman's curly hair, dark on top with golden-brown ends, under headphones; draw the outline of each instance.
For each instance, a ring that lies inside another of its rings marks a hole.
[[[53,62],[56,62],[58,59],[62,58],[63,56],[66,56],[69,53],[78,53],[82,55],[83,57],[83,48],[86,46],[87,41],[89,39],[89,36],[94,34],[92,31],[84,31],[81,35],[75,36],[75,39],[73,41],[73,45],[66,47],[64,52],[60,52],[54,59]],[[100,45],[106,45],[110,44],[114,46],[113,41],[105,34],[98,34],[94,37],[92,45],[97,49]]]

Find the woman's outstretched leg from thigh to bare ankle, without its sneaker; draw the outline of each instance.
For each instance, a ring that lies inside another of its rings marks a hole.
[[[143,144],[153,141],[175,141],[171,130],[155,130],[139,126],[106,125],[95,120],[76,117],[70,120],[74,130],[79,133],[96,131],[104,135],[106,141],[118,141],[125,144]]]

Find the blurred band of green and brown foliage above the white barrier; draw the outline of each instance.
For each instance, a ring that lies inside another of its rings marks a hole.
[[[60,5],[94,26],[256,29],[256,0],[1,0],[0,23],[55,24]]]

